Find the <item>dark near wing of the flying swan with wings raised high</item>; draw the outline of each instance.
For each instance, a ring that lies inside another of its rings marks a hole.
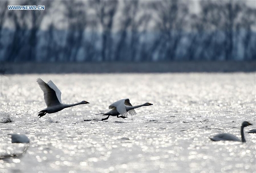
[[[47,83],[45,83],[41,78],[38,78],[36,82],[44,92],[45,104],[47,107],[60,104],[60,101],[56,96],[56,92],[51,87],[49,87]]]

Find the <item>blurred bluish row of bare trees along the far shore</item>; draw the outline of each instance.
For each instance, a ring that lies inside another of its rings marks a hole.
[[[246,1],[1,1],[0,60],[256,60]],[[8,10],[44,5],[45,10]]]

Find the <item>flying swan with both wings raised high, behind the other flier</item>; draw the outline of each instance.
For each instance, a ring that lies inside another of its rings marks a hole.
[[[63,104],[61,98],[62,93],[51,80],[45,83],[41,78],[38,78],[36,81],[44,92],[45,103],[47,105],[46,109],[39,112],[39,118],[43,117],[46,113],[52,114],[67,107],[89,103],[87,101],[81,101],[75,104]]]

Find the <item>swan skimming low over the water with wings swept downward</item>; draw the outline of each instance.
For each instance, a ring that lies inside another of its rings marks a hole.
[[[107,120],[109,116],[117,116],[117,118],[127,118],[128,114],[136,115],[136,112],[134,111],[134,109],[136,109],[137,107],[150,106],[150,105],[153,105],[153,104],[144,103],[141,105],[132,106],[128,98],[122,99],[109,105],[108,108],[111,109],[111,111],[107,112],[106,114],[103,114],[103,115],[107,115],[108,117],[103,118],[102,121]]]

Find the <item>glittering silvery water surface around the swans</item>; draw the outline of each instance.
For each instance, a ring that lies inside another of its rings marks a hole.
[[[46,107],[36,79],[52,80],[70,107],[38,118]],[[126,119],[100,121],[108,106],[129,98],[153,103]],[[240,138],[244,120],[255,128],[254,73],[67,74],[1,76],[0,154],[21,153],[7,134],[26,134],[21,158],[0,160],[0,172],[255,172],[255,134]],[[2,117],[1,117],[2,118]],[[245,128],[245,132],[250,127]]]

